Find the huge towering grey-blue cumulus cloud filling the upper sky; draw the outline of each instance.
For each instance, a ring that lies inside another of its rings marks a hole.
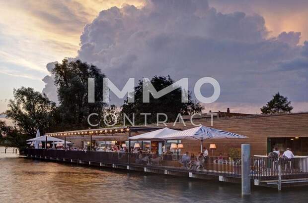
[[[282,68],[305,57],[301,33],[268,34],[258,14],[223,14],[206,0],[148,0],[142,8],[101,11],[84,27],[77,57],[100,67],[118,87],[129,77],[169,74],[188,77],[192,90],[210,76],[222,88],[218,102],[264,103],[278,91],[303,101],[307,75]],[[212,91],[205,85],[203,94]]]

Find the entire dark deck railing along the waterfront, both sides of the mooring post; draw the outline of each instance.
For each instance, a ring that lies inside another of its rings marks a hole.
[[[191,156],[148,153],[64,151],[27,149],[26,155],[35,157],[58,158],[74,161],[119,164],[153,169],[164,169],[195,174],[224,177],[241,177],[241,158],[222,156]],[[308,178],[308,158],[275,159],[251,158],[251,179],[278,179],[281,166],[282,179]]]

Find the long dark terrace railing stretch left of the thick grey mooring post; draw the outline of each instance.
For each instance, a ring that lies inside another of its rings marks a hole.
[[[149,153],[64,151],[27,149],[25,155],[42,158],[71,159],[75,161],[123,164],[178,172],[192,172],[205,175],[223,175],[239,178],[241,175],[240,158],[221,156],[191,156]]]

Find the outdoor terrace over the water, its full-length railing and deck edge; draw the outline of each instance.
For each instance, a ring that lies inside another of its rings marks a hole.
[[[27,149],[29,158],[42,158],[78,164],[107,166],[170,175],[187,175],[195,178],[215,178],[220,181],[240,182],[241,158],[222,156],[185,156],[169,154],[70,151]],[[308,181],[308,158],[279,161],[265,157],[250,158],[250,178],[255,185],[277,186],[278,166],[283,183],[296,184]],[[289,181],[288,181],[289,180]]]

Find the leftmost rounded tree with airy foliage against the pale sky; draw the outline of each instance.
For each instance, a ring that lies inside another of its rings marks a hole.
[[[6,118],[13,120],[19,134],[34,137],[37,129],[44,133],[55,125],[56,103],[49,101],[46,95],[32,88],[21,87],[14,89],[13,96],[14,99],[8,101],[5,114]]]

